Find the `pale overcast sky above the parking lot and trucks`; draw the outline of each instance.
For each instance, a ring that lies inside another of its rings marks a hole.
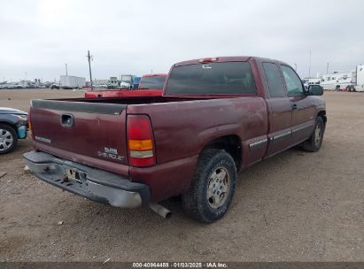
[[[0,81],[167,73],[215,56],[276,58],[301,76],[364,64],[364,1],[0,0]]]

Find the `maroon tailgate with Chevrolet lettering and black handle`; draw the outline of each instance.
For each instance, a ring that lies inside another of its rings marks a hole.
[[[85,165],[110,169],[128,165],[127,104],[33,100],[35,148]]]

